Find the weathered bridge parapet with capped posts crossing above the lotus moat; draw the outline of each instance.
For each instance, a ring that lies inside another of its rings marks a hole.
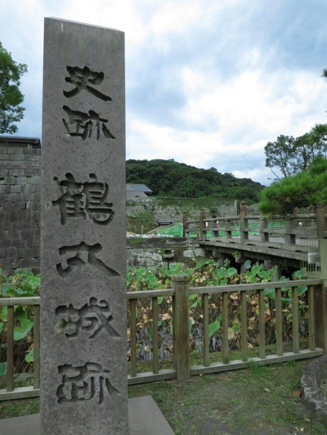
[[[239,215],[207,218],[202,209],[198,220],[189,221],[184,213],[183,226],[185,236],[197,237],[208,251],[223,254],[240,251],[241,259],[274,258],[279,262],[287,259],[293,266],[301,264],[309,270],[316,258],[313,253],[319,253],[318,240],[326,239],[327,243],[327,207],[317,206],[314,213],[298,213],[296,208],[290,216],[270,218],[247,214],[246,203],[242,201]]]

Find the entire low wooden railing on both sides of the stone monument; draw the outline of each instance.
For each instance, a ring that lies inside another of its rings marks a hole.
[[[130,309],[130,373],[128,384],[153,382],[160,379],[176,378],[178,381],[189,379],[191,375],[214,373],[224,370],[240,369],[248,366],[250,361],[257,364],[272,364],[290,360],[316,357],[324,354],[327,348],[325,289],[320,279],[304,279],[297,281],[238,284],[210,287],[190,287],[185,274],[172,277],[173,288],[161,290],[147,290],[127,292]],[[281,285],[292,289],[292,340],[293,350],[284,352],[282,336],[282,290]],[[307,286],[308,305],[308,336],[309,341],[305,349],[299,347],[299,316],[298,316],[298,286]],[[266,355],[265,347],[265,289],[275,289],[276,301],[276,353]],[[247,295],[250,291],[258,294],[259,300],[259,357],[248,357],[247,336]],[[241,358],[230,361],[228,346],[228,297],[231,292],[240,292],[240,332]],[[222,362],[209,362],[209,295],[220,293],[222,298]],[[189,330],[189,295],[197,294],[202,297],[202,338],[203,363],[190,365],[190,330]],[[171,297],[173,310],[173,368],[159,370],[159,331],[158,331],[158,297]],[[152,301],[152,370],[137,373],[136,357],[136,304],[140,299]],[[0,306],[8,306],[7,325],[7,388],[0,390],[0,400],[8,400],[39,395],[39,297],[0,299]],[[32,387],[14,388],[13,383],[13,328],[14,305],[35,305],[34,311],[34,385]]]

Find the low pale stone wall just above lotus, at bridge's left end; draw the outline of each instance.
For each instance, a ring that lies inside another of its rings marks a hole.
[[[207,256],[196,239],[185,237],[172,238],[127,238],[127,265],[146,267],[156,270],[162,266],[170,267],[182,263],[194,267]]]

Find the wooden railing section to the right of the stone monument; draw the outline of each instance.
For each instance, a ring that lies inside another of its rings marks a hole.
[[[153,313],[153,359],[152,371],[137,373],[135,328],[131,331],[131,373],[128,375],[128,384],[156,381],[160,379],[176,378],[178,381],[189,379],[190,375],[201,373],[215,373],[224,370],[246,368],[249,361],[260,365],[298,360],[323,355],[326,348],[326,320],[323,310],[317,315],[318,307],[324,306],[325,290],[319,279],[304,279],[287,281],[283,285],[292,288],[292,337],[293,351],[283,351],[282,339],[282,291],[281,282],[238,284],[210,287],[189,287],[186,275],[173,276],[173,289],[153,290],[142,292],[128,292],[130,300],[131,324],[135,322],[135,309],[137,299],[152,298]],[[309,342],[306,349],[299,349],[299,317],[297,287],[308,286],[308,335]],[[275,289],[276,297],[276,354],[266,355],[265,346],[265,289]],[[258,292],[259,298],[259,357],[248,358],[247,338],[247,294],[250,291]],[[241,310],[241,359],[229,361],[228,347],[228,297],[231,292],[240,292]],[[209,363],[209,294],[221,293],[222,296],[222,362]],[[202,295],[203,316],[203,364],[190,366],[190,331],[189,331],[189,295]],[[157,349],[157,297],[173,297],[173,369],[158,370]],[[154,303],[153,303],[154,302]],[[316,313],[316,315],[314,315]],[[319,317],[319,319],[318,319]],[[156,337],[155,337],[156,336]]]

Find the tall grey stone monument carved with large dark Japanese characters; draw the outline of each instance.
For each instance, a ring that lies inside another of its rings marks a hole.
[[[124,33],[45,19],[41,434],[127,435]]]

